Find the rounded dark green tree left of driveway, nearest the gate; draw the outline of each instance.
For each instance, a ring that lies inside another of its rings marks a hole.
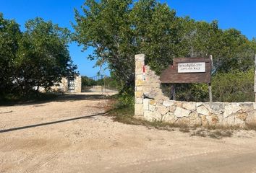
[[[43,86],[49,89],[62,77],[76,74],[69,56],[69,30],[45,22],[41,18],[30,19],[19,43],[15,76],[22,95]]]

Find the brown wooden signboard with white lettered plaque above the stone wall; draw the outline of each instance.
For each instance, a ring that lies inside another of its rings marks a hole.
[[[161,83],[207,83],[211,78],[210,58],[174,58],[174,64],[164,70]]]

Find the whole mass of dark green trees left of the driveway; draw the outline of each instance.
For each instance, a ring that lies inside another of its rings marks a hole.
[[[66,28],[35,18],[20,32],[16,22],[1,14],[0,37],[0,95],[25,96],[39,86],[49,89],[62,77],[77,74],[69,56]]]

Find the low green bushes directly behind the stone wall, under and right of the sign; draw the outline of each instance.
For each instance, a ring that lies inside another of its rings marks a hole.
[[[254,70],[218,73],[212,77],[214,102],[253,102]],[[208,84],[175,84],[176,100],[208,102]],[[162,84],[163,93],[169,97],[171,84]]]

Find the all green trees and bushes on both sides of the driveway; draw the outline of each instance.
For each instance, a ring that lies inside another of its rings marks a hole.
[[[239,30],[223,30],[216,20],[178,17],[172,6],[156,0],[88,0],[74,11],[74,19],[74,33],[40,17],[28,20],[21,31],[15,20],[0,14],[1,100],[30,97],[40,87],[47,92],[62,77],[76,75],[68,50],[75,41],[82,50],[93,48],[88,59],[106,65],[127,97],[135,89],[135,54],[144,53],[157,74],[173,58],[213,55],[213,101],[253,101],[256,38],[249,40]],[[177,84],[176,99],[204,102],[207,86]]]

